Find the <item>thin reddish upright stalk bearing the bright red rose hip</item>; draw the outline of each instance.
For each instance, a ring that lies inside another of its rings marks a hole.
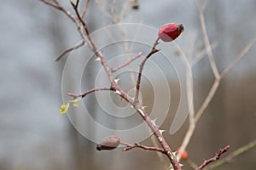
[[[155,49],[155,47],[157,46],[158,44],[158,41],[160,40],[160,38],[156,38],[156,40],[154,41],[154,44],[153,44],[153,47],[151,49],[151,51],[148,53],[148,55],[143,59],[141,65],[140,65],[140,69],[139,69],[139,72],[138,72],[138,76],[137,76],[137,85],[136,85],[136,94],[135,94],[135,99],[134,101],[135,102],[138,102],[138,98],[139,98],[139,91],[140,91],[140,84],[141,84],[141,79],[142,79],[142,75],[143,75],[143,67],[146,63],[146,61],[149,59],[149,57],[152,55],[152,54],[155,54],[159,51],[159,49]]]

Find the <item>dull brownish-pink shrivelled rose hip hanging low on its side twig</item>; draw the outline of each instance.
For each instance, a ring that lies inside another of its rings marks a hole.
[[[101,144],[96,145],[96,150],[113,150],[120,144],[120,139],[116,136],[108,136],[102,139]]]

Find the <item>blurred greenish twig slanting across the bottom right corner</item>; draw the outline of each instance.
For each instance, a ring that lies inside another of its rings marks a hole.
[[[217,167],[220,167],[220,166],[224,165],[225,163],[230,162],[236,156],[241,156],[241,154],[244,154],[248,150],[252,150],[255,147],[256,147],[256,140],[253,140],[253,142],[250,142],[249,144],[241,146],[241,148],[238,148],[237,150],[233,151],[229,156],[224,157],[224,159],[222,159],[220,161],[213,162],[211,165],[207,166],[205,168],[205,170],[216,169]]]

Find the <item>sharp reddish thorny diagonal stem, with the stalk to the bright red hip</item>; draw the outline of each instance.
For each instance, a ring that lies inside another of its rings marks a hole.
[[[71,20],[73,20],[73,22],[76,24],[76,26],[78,26],[79,33],[80,33],[81,37],[83,37],[84,42],[89,44],[89,47],[96,54],[96,56],[101,60],[102,66],[105,69],[105,71],[107,72],[108,79],[109,79],[109,81],[111,83],[111,86],[110,86],[109,89],[113,90],[116,94],[119,94],[123,99],[125,99],[127,102],[129,102],[134,107],[134,109],[137,110],[137,112],[143,117],[143,120],[148,124],[148,127],[151,128],[151,130],[154,133],[155,137],[159,140],[161,146],[163,147],[163,150],[165,150],[164,151],[165,155],[169,158],[169,160],[172,163],[172,167],[174,169],[176,169],[176,170],[181,170],[181,167],[180,167],[180,165],[179,165],[179,163],[178,163],[178,161],[176,159],[176,156],[173,154],[171,148],[166,143],[166,139],[164,139],[162,133],[160,132],[159,127],[154,125],[154,123],[152,122],[152,120],[150,119],[150,117],[148,116],[146,111],[144,111],[143,106],[141,104],[139,104],[138,102],[135,102],[135,99],[132,99],[128,94],[126,94],[121,88],[119,88],[119,85],[117,84],[117,82],[114,81],[111,69],[108,67],[108,64],[107,64],[106,60],[104,59],[102,53],[100,51],[98,51],[98,49],[96,48],[95,42],[90,37],[90,31],[88,30],[88,27],[86,26],[86,22],[82,19],[81,15],[79,14],[79,10],[78,10],[79,1],[77,1],[76,3],[73,3],[73,1],[71,1],[73,9],[74,9],[74,11],[75,11],[75,13],[76,13],[76,15],[78,17],[78,20],[76,18],[74,18],[73,15],[70,14],[70,12],[67,11],[66,8],[63,8],[61,6],[61,4],[57,0],[55,0],[55,4],[49,3],[49,1],[46,1],[46,0],[41,0],[41,1],[51,5],[52,7],[60,9],[62,12],[67,14],[67,16]],[[142,76],[143,65],[145,64],[146,60],[152,54],[154,54],[154,53],[159,51],[158,49],[155,49],[158,40],[159,40],[159,38],[156,39],[156,41],[154,42],[152,50],[148,53],[148,55],[143,60],[143,63],[140,66],[140,74],[138,75],[138,81],[137,81],[137,91],[139,90],[139,86],[140,86],[140,80],[141,80],[141,76]],[[100,88],[98,88],[98,89],[100,89]],[[94,91],[96,91],[96,89],[92,89],[91,91],[85,92],[82,95],[80,94],[80,96],[85,96],[86,94],[90,94],[91,92],[94,92]],[[97,90],[97,91],[99,91],[99,90]],[[69,94],[69,95],[71,95],[73,97],[76,97],[75,94]],[[138,97],[138,95],[137,95],[137,97]]]

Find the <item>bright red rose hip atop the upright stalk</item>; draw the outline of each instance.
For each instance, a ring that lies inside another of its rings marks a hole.
[[[172,42],[183,31],[184,31],[184,27],[182,24],[170,23],[160,27],[160,30],[158,31],[158,36],[164,42]]]

